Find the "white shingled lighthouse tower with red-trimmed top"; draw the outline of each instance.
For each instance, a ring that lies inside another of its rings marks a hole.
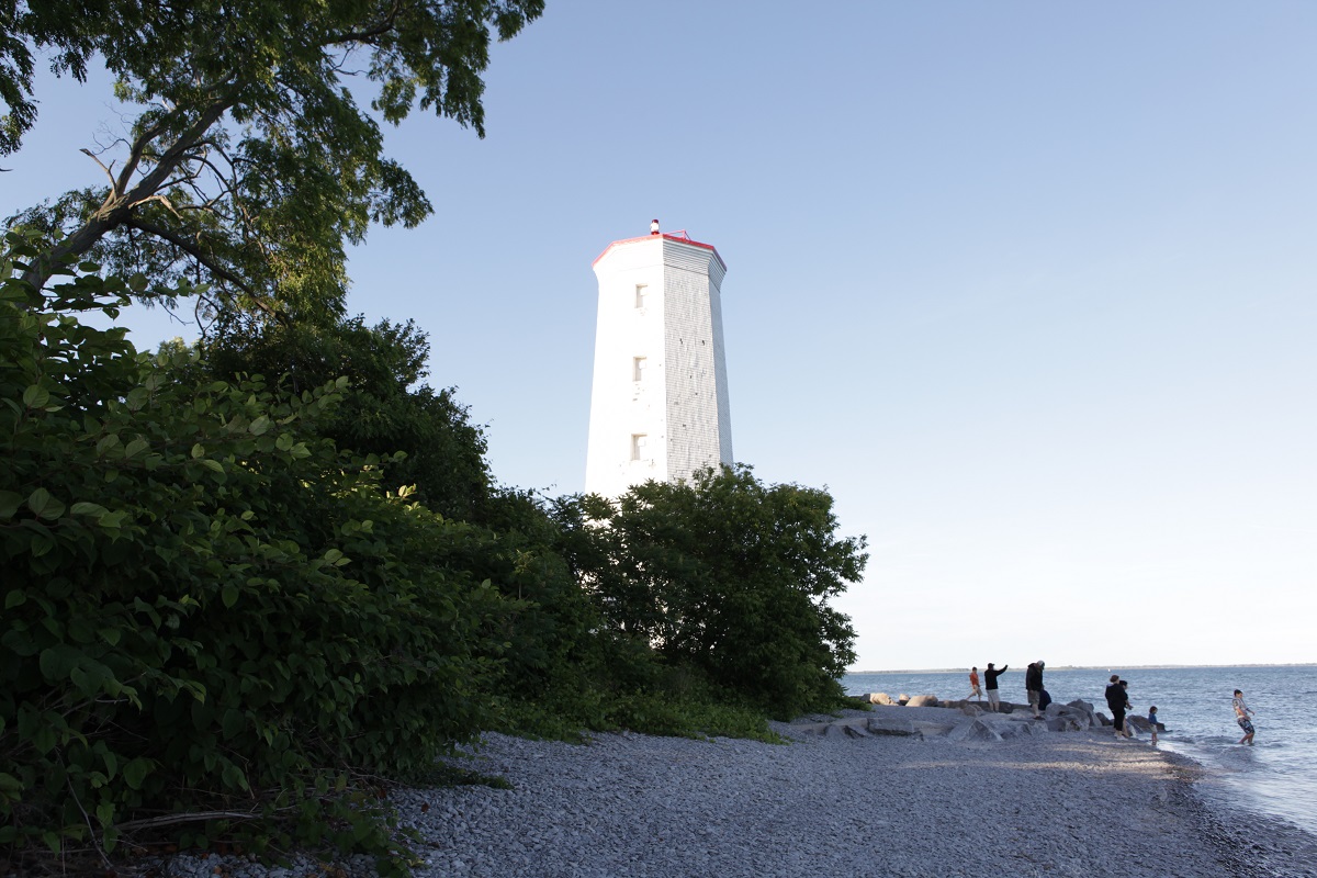
[[[614,241],[594,261],[585,490],[616,498],[649,479],[732,462],[718,250],[685,232]]]

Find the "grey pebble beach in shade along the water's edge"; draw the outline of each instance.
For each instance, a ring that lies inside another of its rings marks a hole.
[[[1146,742],[1097,729],[1002,741],[806,731],[834,719],[774,724],[789,745],[490,735],[460,762],[512,790],[407,790],[395,802],[424,837],[416,874],[435,878],[1317,875],[1310,836],[1214,815],[1192,791],[1200,769]],[[340,867],[329,874],[369,871]],[[180,857],[166,874],[325,873]]]

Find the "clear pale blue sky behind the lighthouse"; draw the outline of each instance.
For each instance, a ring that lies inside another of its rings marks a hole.
[[[352,251],[510,486],[582,490],[590,265],[712,244],[735,458],[867,534],[855,670],[1317,662],[1317,5],[549,0]],[[41,80],[0,212],[97,183]],[[140,348],[190,334],[130,308]]]

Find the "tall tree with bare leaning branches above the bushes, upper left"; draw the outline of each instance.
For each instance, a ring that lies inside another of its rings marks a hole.
[[[431,213],[412,176],[383,155],[377,117],[398,124],[419,105],[483,137],[490,41],[543,9],[544,0],[0,0],[0,154],[36,124],[40,53],[79,80],[99,58],[138,111],[117,158],[92,155],[107,186],[11,217],[62,236],[24,279],[40,290],[62,261],[90,255],[149,279],[144,292],[167,301],[179,282],[205,282],[211,313],[337,313],[344,240]],[[377,87],[374,115],[344,84],[362,74]]]

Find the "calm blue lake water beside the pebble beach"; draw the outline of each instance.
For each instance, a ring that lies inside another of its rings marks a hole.
[[[982,675],[984,665],[979,666]],[[852,695],[888,692],[893,698],[936,695],[954,700],[969,694],[969,669],[847,674]],[[1062,704],[1081,698],[1109,715],[1102,690],[1112,674],[1130,682],[1133,713],[1147,716],[1150,704],[1167,732],[1158,746],[1208,767],[1204,796],[1220,806],[1279,816],[1317,835],[1317,665],[1297,667],[1158,667],[1047,669],[1043,684]],[[1014,665],[1000,678],[1004,702],[1023,704],[1025,669]],[[1239,746],[1242,732],[1230,699],[1243,690],[1252,708],[1255,746]],[[1141,736],[1144,742],[1147,736]]]

